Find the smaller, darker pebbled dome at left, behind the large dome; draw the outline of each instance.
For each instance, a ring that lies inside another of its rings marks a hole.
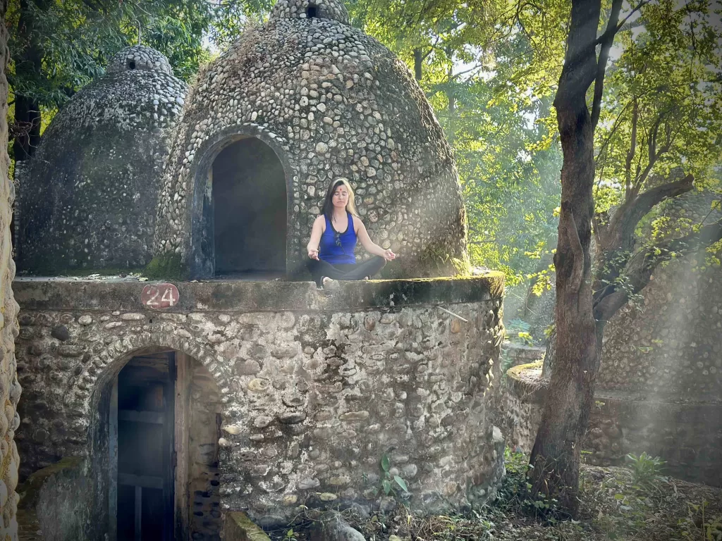
[[[21,271],[147,265],[168,136],[186,92],[165,56],[136,45],[67,102],[32,159],[17,164]]]

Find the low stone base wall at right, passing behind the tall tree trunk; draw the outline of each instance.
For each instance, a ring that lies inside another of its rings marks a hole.
[[[547,391],[541,362],[516,366],[503,381],[499,424],[509,447],[531,452]],[[722,486],[719,402],[671,402],[605,390],[597,390],[594,399],[584,461],[621,465],[627,453],[646,452],[664,459],[668,475]]]

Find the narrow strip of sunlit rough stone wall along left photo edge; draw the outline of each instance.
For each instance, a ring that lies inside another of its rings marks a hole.
[[[0,20],[4,21],[7,0],[0,0]],[[12,279],[12,203],[15,188],[8,177],[7,95],[5,69],[8,62],[8,33],[0,24],[0,538],[17,539],[17,468],[19,457],[14,434],[20,423],[16,408],[20,397],[17,382],[15,345],[17,336],[17,303],[13,298]]]

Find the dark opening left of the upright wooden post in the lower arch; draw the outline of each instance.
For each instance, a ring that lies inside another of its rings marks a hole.
[[[118,541],[173,540],[174,382],[175,353],[155,353],[133,357],[113,387]]]

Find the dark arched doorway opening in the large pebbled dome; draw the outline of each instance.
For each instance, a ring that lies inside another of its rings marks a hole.
[[[287,193],[270,146],[244,138],[212,169],[215,275],[274,278],[286,273]]]

